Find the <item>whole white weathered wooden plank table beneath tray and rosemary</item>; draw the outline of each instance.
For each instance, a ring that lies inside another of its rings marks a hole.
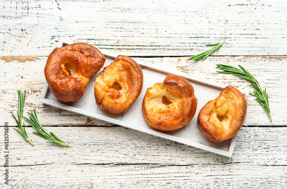
[[[286,188],[286,1],[0,2],[1,188]],[[223,157],[42,105],[47,56],[60,37],[243,88],[215,64],[245,67],[267,88],[273,122],[249,96],[233,156]],[[204,61],[188,57],[225,41]],[[24,116],[70,144],[60,147],[13,128],[17,90]],[[4,125],[9,124],[9,185],[4,184]]]

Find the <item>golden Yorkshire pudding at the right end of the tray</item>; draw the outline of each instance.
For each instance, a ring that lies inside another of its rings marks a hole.
[[[247,103],[243,94],[232,86],[225,87],[219,96],[199,111],[197,125],[212,142],[234,136],[244,123]]]

